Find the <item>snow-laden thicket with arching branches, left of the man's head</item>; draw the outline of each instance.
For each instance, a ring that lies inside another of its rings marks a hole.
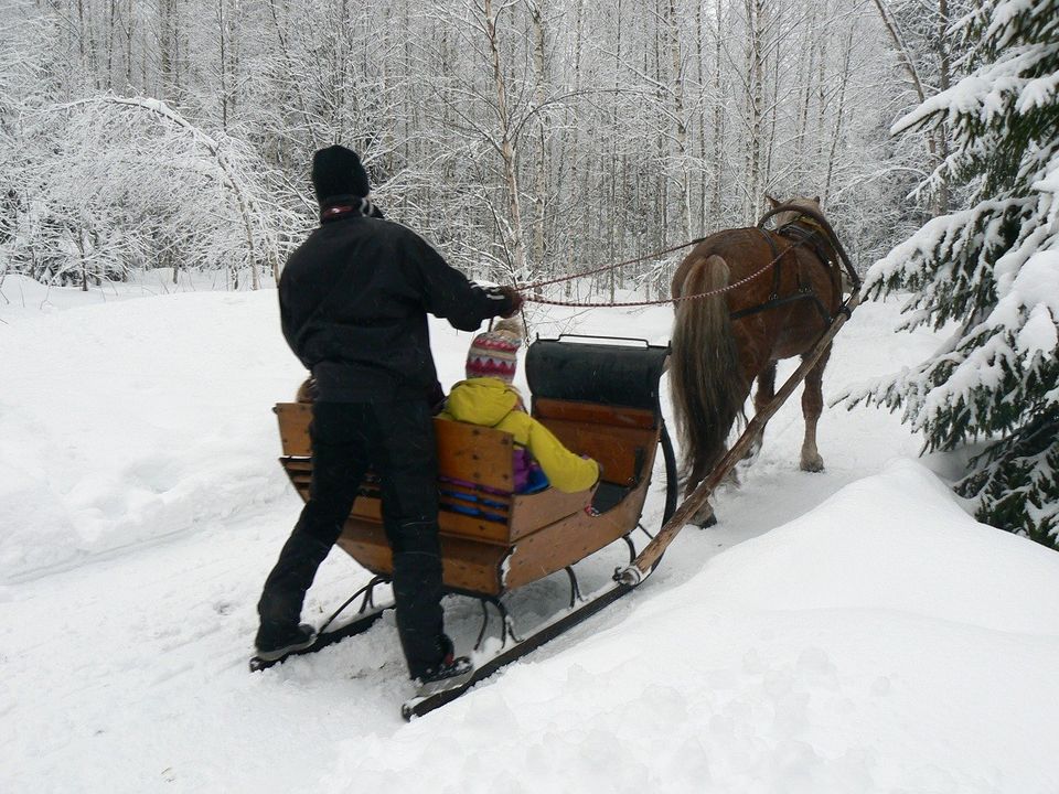
[[[18,269],[83,289],[142,267],[227,271],[255,289],[278,271],[299,219],[246,143],[157,99],[106,95],[33,120],[36,148],[9,178],[13,227],[0,235]]]

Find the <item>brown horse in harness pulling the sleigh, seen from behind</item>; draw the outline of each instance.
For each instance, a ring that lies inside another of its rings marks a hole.
[[[771,196],[769,201],[781,206]],[[819,197],[799,196],[784,205],[820,215]],[[773,397],[777,361],[807,353],[842,303],[832,238],[809,215],[782,212],[775,217],[779,232],[755,227],[710,235],[692,249],[673,277],[674,298],[713,293],[675,304],[670,384],[685,495],[725,454],[732,422],[746,418],[744,405],[753,379],[758,379],[753,404],[760,410]],[[828,348],[805,378],[804,471],[824,468],[816,449],[816,421],[830,354]],[[755,453],[760,446],[759,437]],[[708,506],[695,517],[703,526],[713,521]]]

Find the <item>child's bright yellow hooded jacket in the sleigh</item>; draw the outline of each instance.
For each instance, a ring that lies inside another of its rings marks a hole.
[[[513,386],[500,378],[471,378],[452,387],[441,419],[491,427],[515,437],[541,464],[552,487],[564,493],[586,491],[599,479],[599,464],[574,454],[550,430],[520,407]]]

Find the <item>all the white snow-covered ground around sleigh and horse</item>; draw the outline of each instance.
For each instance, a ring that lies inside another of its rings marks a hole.
[[[246,672],[300,508],[275,461],[269,409],[302,377],[275,292],[2,291],[0,792],[1059,791],[1059,556],[969,517],[938,476],[955,462],[918,461],[896,417],[828,410],[806,474],[791,400],[717,527],[406,725],[391,620]],[[857,310],[826,394],[937,346],[896,315]],[[670,313],[535,320],[664,342]],[[468,341],[435,324],[446,384]],[[581,564],[586,587],[622,555]],[[304,616],[366,579],[335,551]],[[511,605],[532,625],[566,597],[557,577]],[[466,647],[478,608],[447,615]]]

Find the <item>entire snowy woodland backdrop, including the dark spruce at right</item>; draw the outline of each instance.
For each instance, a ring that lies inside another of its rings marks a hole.
[[[1059,546],[1059,0],[13,0],[0,30],[0,301],[272,283],[332,143],[472,278],[596,271],[574,303],[664,301],[689,240],[820,196],[867,294],[952,333],[846,405]]]

